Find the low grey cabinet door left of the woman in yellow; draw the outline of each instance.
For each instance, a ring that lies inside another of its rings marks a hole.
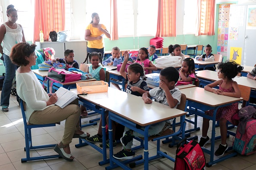
[[[83,63],[87,55],[87,41],[69,41],[65,42],[65,50],[72,49],[75,53],[75,61]],[[86,62],[87,64],[88,62]]]

